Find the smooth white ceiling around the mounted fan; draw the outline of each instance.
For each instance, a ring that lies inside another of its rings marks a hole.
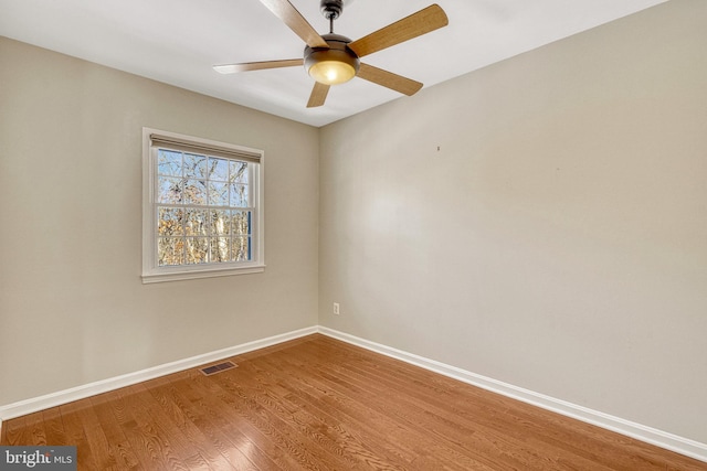
[[[429,87],[665,0],[436,1],[449,26],[363,62]],[[328,32],[319,0],[291,2]],[[335,32],[357,40],[432,2],[348,0]],[[302,40],[258,0],[0,0],[0,35],[313,126],[402,97],[355,78],[307,109],[303,67],[215,73],[215,64],[302,57]]]

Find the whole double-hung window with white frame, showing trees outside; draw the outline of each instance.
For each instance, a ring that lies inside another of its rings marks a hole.
[[[143,141],[143,282],[263,271],[263,152],[148,128]]]

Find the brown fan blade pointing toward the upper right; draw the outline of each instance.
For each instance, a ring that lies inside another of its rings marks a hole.
[[[413,38],[421,36],[449,24],[446,13],[439,4],[412,13],[388,26],[370,33],[360,40],[349,43],[349,49],[359,57],[382,51]]]

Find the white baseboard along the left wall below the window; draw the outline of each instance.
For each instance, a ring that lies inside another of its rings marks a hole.
[[[171,373],[177,373],[183,370],[204,365],[207,363],[228,358],[230,356],[240,355],[271,345],[276,345],[278,343],[298,339],[305,335],[310,335],[313,333],[317,333],[316,327],[300,329],[297,331],[270,336],[267,339],[256,340],[253,342],[242,343],[240,345],[230,346],[228,349],[218,350],[215,352],[204,353],[202,355],[192,356],[190,358],[166,363],[163,365],[154,366],[151,368],[141,370],[139,372],[128,373],[125,375],[97,381],[95,383],[88,383],[85,385],[72,387],[71,389],[64,389],[56,393],[46,394],[44,396],[20,400],[7,406],[0,406],[0,427],[2,426],[2,420],[9,420],[15,417],[36,413],[39,410],[49,409],[50,407],[61,406],[62,404],[67,404],[73,400],[84,399],[86,397],[95,396],[96,394],[107,393],[120,387],[130,386],[144,381],[154,379],[156,377],[165,376]]]

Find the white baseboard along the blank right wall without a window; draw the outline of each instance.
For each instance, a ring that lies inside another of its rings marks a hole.
[[[572,417],[574,419],[595,425],[598,427],[612,430],[631,438],[635,438],[636,440],[645,441],[647,443],[655,445],[656,447],[665,448],[667,450],[675,451],[676,453],[685,454],[687,457],[695,458],[696,460],[707,462],[707,443],[700,443],[688,438],[668,433],[666,431],[658,430],[652,427],[646,427],[641,424],[635,424],[630,420],[624,420],[609,414],[592,410],[587,407],[578,406],[576,404],[571,404],[561,399],[556,399],[544,394],[524,389],[511,384],[503,383],[486,376],[467,372],[462,368],[457,368],[455,366],[450,366],[434,360],[429,360],[412,353],[381,345],[379,343],[360,339],[329,328],[319,327],[318,332],[333,339],[337,339],[352,345],[357,345],[372,352],[380,353],[415,366],[420,366],[422,368],[452,377],[454,379],[458,379],[473,386],[478,386],[486,390],[521,400],[524,403],[541,407],[544,409],[551,410],[563,416]]]

